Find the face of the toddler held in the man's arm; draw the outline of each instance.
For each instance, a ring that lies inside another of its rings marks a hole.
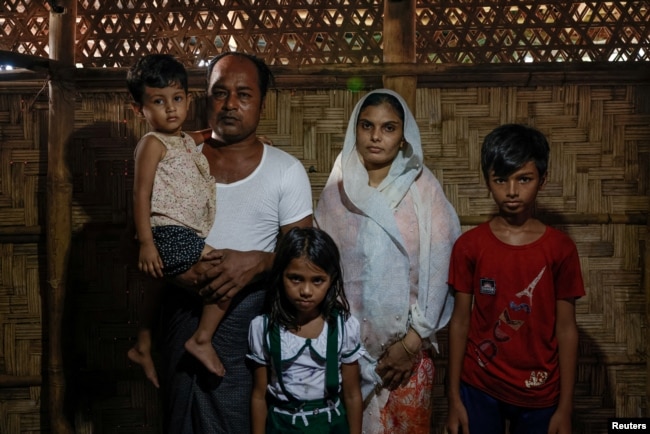
[[[187,118],[190,101],[180,84],[163,88],[145,86],[142,104],[133,104],[133,110],[144,116],[154,131],[178,134]]]

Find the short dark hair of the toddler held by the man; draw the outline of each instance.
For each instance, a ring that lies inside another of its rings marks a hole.
[[[126,85],[137,104],[142,104],[145,86],[162,89],[179,84],[187,93],[187,81],[185,67],[169,54],[149,54],[141,57],[126,75]]]

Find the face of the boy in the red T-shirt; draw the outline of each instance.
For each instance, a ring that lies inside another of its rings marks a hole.
[[[532,215],[537,193],[546,183],[535,163],[529,161],[508,176],[496,176],[490,171],[488,189],[503,216]]]

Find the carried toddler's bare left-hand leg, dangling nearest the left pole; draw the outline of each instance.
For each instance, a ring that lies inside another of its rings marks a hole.
[[[126,353],[129,360],[137,363],[144,370],[144,374],[154,386],[160,388],[158,374],[153,358],[151,357],[152,335],[151,329],[160,307],[160,293],[163,285],[162,280],[145,278],[144,298],[140,309],[140,328],[135,345]]]

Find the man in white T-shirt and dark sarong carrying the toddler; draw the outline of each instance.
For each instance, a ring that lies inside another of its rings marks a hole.
[[[206,239],[215,250],[177,279],[190,291],[168,291],[166,432],[250,432],[252,377],[245,356],[248,325],[264,303],[260,276],[270,269],[281,233],[312,225],[304,167],[256,135],[271,79],[263,62],[242,53],[224,53],[208,67],[212,138],[202,151],[217,183],[216,218]],[[232,303],[212,341],[226,369],[224,377],[215,378],[184,353],[183,343],[197,325],[202,303],[219,297]]]

